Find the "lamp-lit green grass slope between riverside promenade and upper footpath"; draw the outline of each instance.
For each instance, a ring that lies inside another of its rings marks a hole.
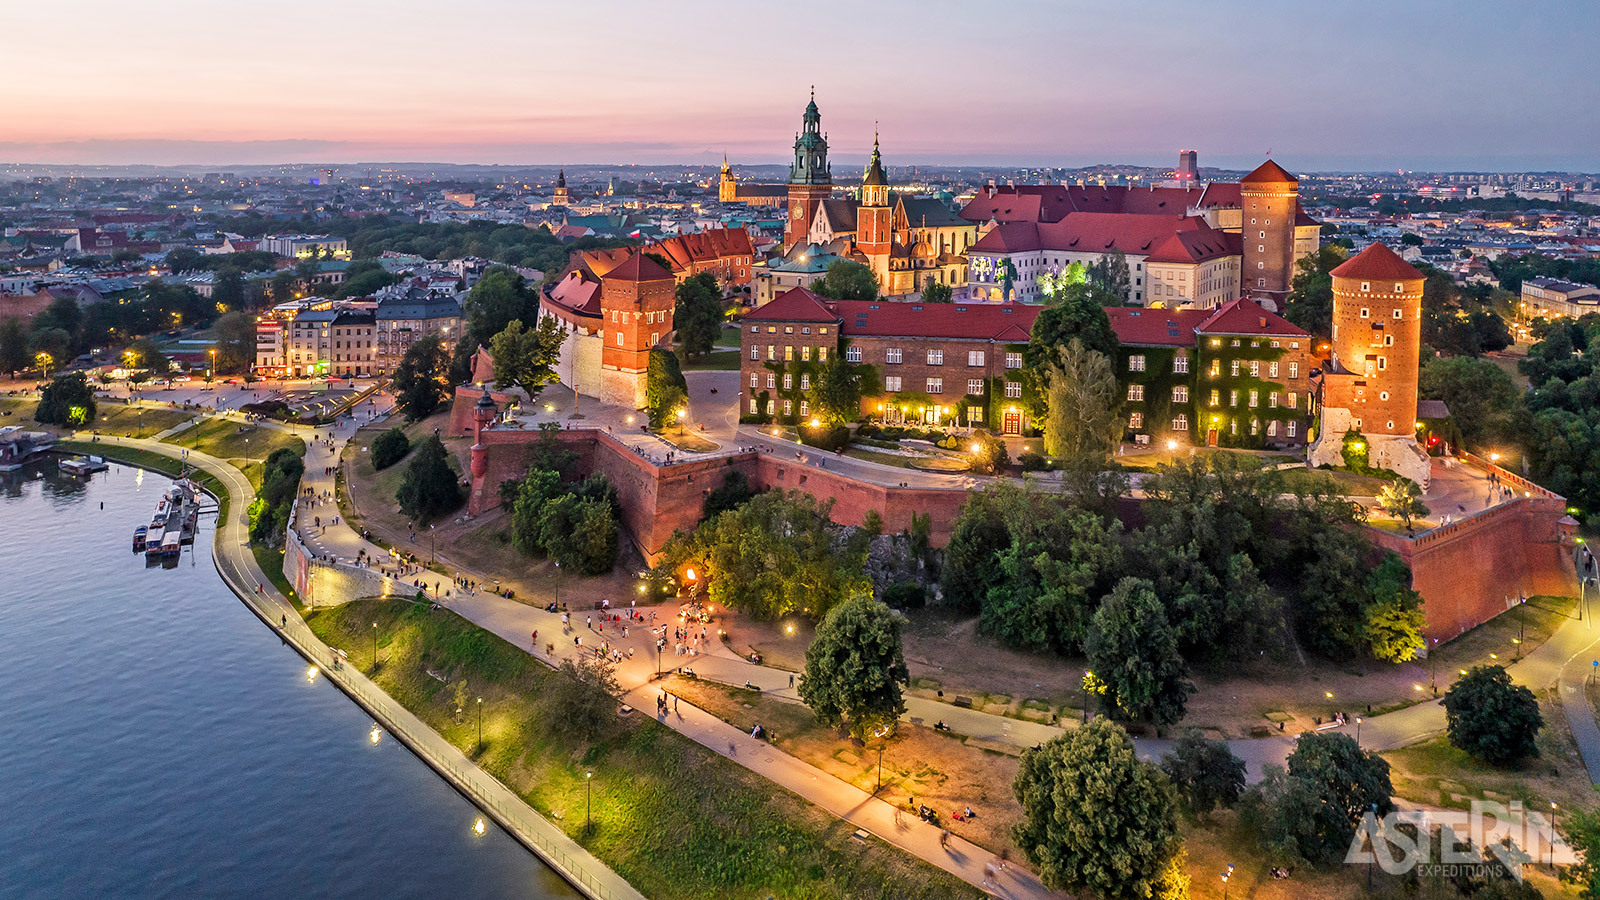
[[[653,719],[618,717],[595,741],[563,732],[546,709],[549,671],[506,641],[446,610],[405,601],[355,601],[309,623],[446,740],[472,751],[477,719],[458,716],[464,681],[483,698],[475,759],[651,900],[701,897],[979,897],[952,876],[717,756]],[[594,828],[584,836],[586,772]]]

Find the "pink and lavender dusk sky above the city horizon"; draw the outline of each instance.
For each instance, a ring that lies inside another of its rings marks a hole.
[[[950,2],[862,16],[474,0],[451,10],[459,30],[416,0],[291,0],[248,22],[165,6],[155,19],[90,3],[72,42],[48,10],[14,11],[18,34],[50,35],[13,50],[21,70],[98,64],[0,98],[0,159],[776,165],[814,83],[840,175],[866,160],[874,125],[888,165],[1170,167],[1197,147],[1202,165],[1238,170],[1269,151],[1301,171],[1600,170],[1600,123],[1574,115],[1600,101],[1581,53],[1600,16],[1581,3],[1506,21],[1477,2],[1130,14],[1016,0],[974,29]]]

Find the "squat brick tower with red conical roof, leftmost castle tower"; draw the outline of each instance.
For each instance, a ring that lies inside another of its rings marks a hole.
[[[643,253],[600,277],[600,402],[645,407],[650,351],[672,331],[675,287],[672,272]]]

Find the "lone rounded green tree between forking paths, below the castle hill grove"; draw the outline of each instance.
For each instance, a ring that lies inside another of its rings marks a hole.
[[[838,604],[818,625],[798,689],[819,722],[867,740],[906,711],[901,687],[909,682],[899,618],[867,593]]]

